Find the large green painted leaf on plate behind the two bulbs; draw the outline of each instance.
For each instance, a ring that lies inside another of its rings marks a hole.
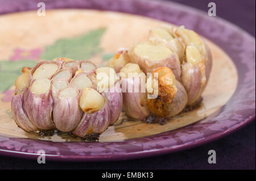
[[[100,38],[105,30],[100,28],[77,37],[57,40],[55,44],[46,47],[40,58],[53,60],[56,57],[68,57],[74,60],[86,60],[101,52]]]

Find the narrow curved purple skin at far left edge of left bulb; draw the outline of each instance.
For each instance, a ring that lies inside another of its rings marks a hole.
[[[38,128],[28,119],[26,113],[23,110],[23,98],[22,94],[14,95],[11,100],[11,113],[13,115],[15,123],[24,131],[34,132]]]

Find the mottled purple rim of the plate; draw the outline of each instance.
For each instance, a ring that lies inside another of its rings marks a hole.
[[[23,7],[22,2],[24,4],[24,0],[19,1],[18,10],[2,10],[0,8],[0,14],[33,10],[36,9],[36,6],[32,6],[33,3],[34,5],[38,3],[38,1],[31,1],[31,6]],[[106,0],[103,2],[92,0],[87,2],[77,1],[79,3],[76,5],[71,0],[64,1],[65,4],[55,2],[55,0],[47,2],[48,9],[79,7],[112,10],[148,16],[178,25],[185,24],[186,27],[213,41],[234,60],[238,71],[238,87],[232,98],[220,111],[195,124],[175,131],[123,142],[60,143],[0,136],[1,155],[36,159],[38,158],[37,150],[46,149],[47,160],[51,161],[117,161],[144,158],[207,144],[236,132],[255,119],[255,38],[241,28],[218,17],[210,18],[203,11],[174,2],[145,0]],[[147,3],[147,6],[144,6],[145,3]],[[253,93],[254,95],[252,95]],[[237,100],[238,97],[243,100]],[[245,109],[241,108],[240,104]],[[220,124],[221,121],[225,122]],[[223,125],[226,127],[223,127]],[[207,131],[205,131],[205,128],[207,128]]]

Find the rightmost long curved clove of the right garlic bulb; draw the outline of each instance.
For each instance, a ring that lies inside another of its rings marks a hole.
[[[196,32],[179,27],[175,33],[186,46],[186,60],[181,66],[181,83],[187,90],[188,106],[192,106],[198,103],[197,100],[209,81],[212,54]]]

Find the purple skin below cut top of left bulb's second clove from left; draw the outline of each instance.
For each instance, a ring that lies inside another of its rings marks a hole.
[[[23,100],[23,108],[32,124],[43,130],[55,128],[52,121],[53,99],[51,90],[36,95],[26,88],[23,93]]]

